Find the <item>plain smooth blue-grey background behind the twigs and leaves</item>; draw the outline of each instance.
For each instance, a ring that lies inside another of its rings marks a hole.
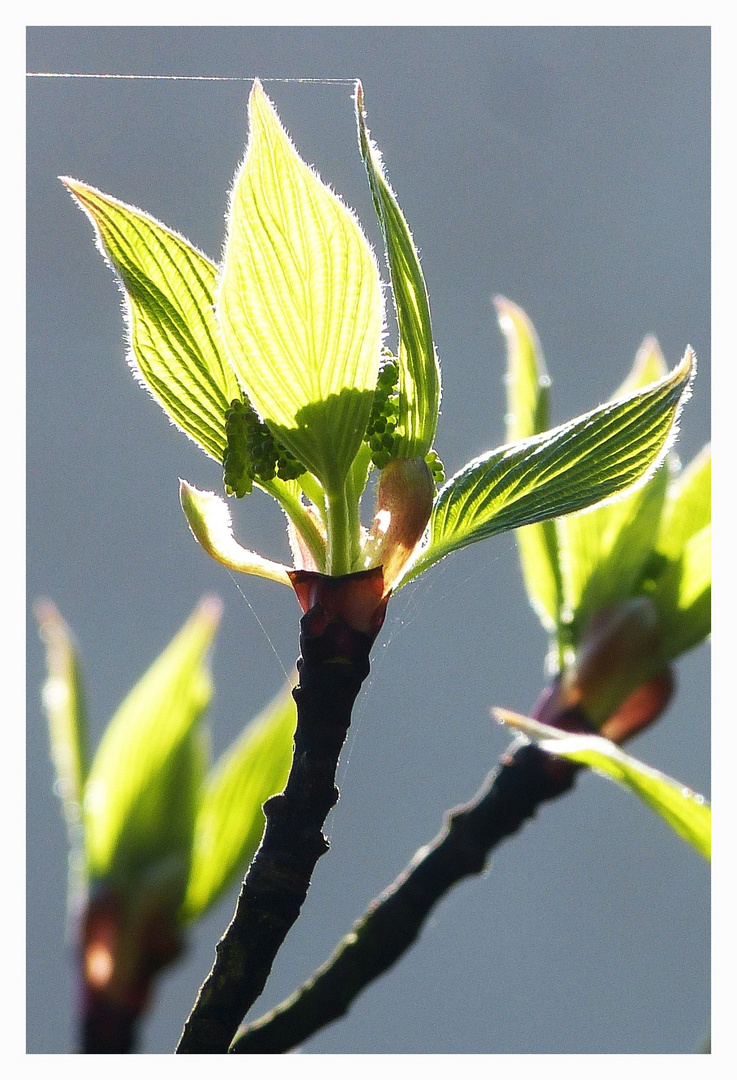
[[[32,27],[28,71],[260,77],[302,156],[380,251],[348,83],[420,249],[443,366],[448,474],[504,442],[492,297],[521,305],[553,379],[553,421],[604,401],[646,334],[699,360],[684,460],[709,438],[708,28]],[[284,589],[238,581],[196,544],[177,477],[218,488],[125,364],[120,294],[69,174],[153,214],[211,258],[246,134],[243,82],[27,81],[28,599],[79,640],[93,745],[126,691],[217,593],[218,754],[297,656]],[[287,558],[260,494],[246,546]],[[468,799],[509,742],[490,706],[528,711],[546,638],[511,535],[456,553],[389,606],[339,768],[303,917],[253,1016],[330,954]],[[66,838],[53,789],[41,644],[28,619],[28,1042],[73,1051]],[[632,744],[709,794],[709,649],[678,669]],[[234,893],[159,985],[142,1052],[171,1053]],[[437,909],[406,958],[303,1053],[695,1053],[709,1025],[709,868],[648,810],[586,775]]]

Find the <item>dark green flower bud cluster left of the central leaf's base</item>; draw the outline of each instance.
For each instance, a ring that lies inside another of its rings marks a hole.
[[[267,483],[296,480],[306,471],[289,450],[276,441],[256,411],[245,401],[233,400],[225,414],[228,445],[223,455],[225,489],[242,499],[253,490],[254,481]]]

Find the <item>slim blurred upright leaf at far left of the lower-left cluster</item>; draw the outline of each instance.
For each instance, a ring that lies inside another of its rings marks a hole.
[[[82,788],[88,768],[79,653],[69,627],[51,600],[36,605],[36,618],[46,647],[49,676],[43,686],[43,705],[49,719],[56,789],[70,840],[76,843],[79,840]]]

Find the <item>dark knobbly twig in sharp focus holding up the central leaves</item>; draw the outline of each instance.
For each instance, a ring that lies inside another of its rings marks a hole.
[[[320,595],[319,575],[310,579],[310,600],[295,589],[303,607]],[[373,571],[366,571],[373,575]],[[366,575],[351,576],[358,586]],[[378,595],[381,595],[380,571]],[[323,579],[324,581],[324,579]],[[294,756],[286,787],[265,807],[266,829],[238,897],[236,913],[216,948],[213,969],[185,1024],[177,1053],[226,1053],[238,1025],[260,995],[273,959],[299,915],[318,859],[327,851],[322,827],[338,798],[335,772],[350,724],[351,710],[368,674],[368,653],[384,615],[380,604],[370,632],[356,630],[329,611],[339,582],[327,582],[330,596],[311,604],[300,623]],[[357,586],[357,588],[358,588]],[[356,589],[349,585],[352,596]],[[305,593],[306,595],[306,593]],[[338,607],[345,606],[338,597]],[[349,605],[350,606],[350,605]]]

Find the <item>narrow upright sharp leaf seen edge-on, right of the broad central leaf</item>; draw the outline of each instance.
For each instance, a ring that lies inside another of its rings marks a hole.
[[[386,244],[399,325],[398,458],[425,457],[432,446],[440,408],[440,365],[432,341],[430,306],[419,257],[376,144],[366,129],[363,87],[356,84],[356,117],[361,156],[368,174]]]

